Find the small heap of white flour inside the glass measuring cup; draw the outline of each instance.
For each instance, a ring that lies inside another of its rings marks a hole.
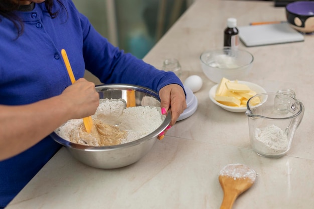
[[[255,149],[270,155],[285,152],[289,145],[284,131],[273,124],[263,128],[256,128],[255,139]]]

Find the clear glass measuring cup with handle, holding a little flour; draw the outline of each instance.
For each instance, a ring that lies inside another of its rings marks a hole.
[[[260,103],[254,105],[257,97]],[[261,156],[281,157],[290,149],[304,106],[285,94],[263,93],[248,100],[245,114],[253,150]]]

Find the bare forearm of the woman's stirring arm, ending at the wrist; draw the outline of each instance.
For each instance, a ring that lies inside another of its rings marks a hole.
[[[29,105],[0,105],[0,160],[38,143],[71,118],[60,96]]]

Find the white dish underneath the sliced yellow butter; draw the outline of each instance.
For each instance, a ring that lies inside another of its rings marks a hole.
[[[266,93],[265,89],[263,89],[261,86],[251,83],[251,82],[247,82],[247,81],[238,81],[238,83],[240,84],[245,84],[247,85],[252,91],[255,91],[256,94],[261,94],[261,93]],[[215,94],[216,94],[216,90],[219,84],[216,84],[215,86],[213,86],[210,91],[209,91],[209,98],[218,106],[220,106],[221,108],[228,110],[230,112],[245,112],[247,110],[246,107],[230,107],[227,105],[223,105],[220,104],[219,102],[217,102],[215,100]]]

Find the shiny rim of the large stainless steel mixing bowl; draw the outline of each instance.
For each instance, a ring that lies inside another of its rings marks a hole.
[[[138,86],[138,85],[131,85],[131,84],[101,84],[95,86],[96,91],[100,92],[103,90],[135,90],[135,91],[140,91],[144,93],[149,93],[151,94],[155,99],[160,101],[160,98],[158,94],[146,87],[143,86]],[[123,143],[123,144],[117,144],[117,145],[112,145],[112,146],[86,146],[82,144],[76,144],[71,141],[68,141],[66,139],[61,138],[56,131],[52,132],[50,136],[59,144],[65,146],[66,148],[73,148],[73,149],[79,149],[79,150],[84,150],[84,151],[104,151],[104,150],[115,150],[115,149],[120,149],[120,148],[126,148],[126,147],[131,147],[135,146],[137,144],[143,143],[146,140],[153,140],[154,137],[158,136],[162,131],[164,131],[170,124],[172,118],[171,111],[168,111],[165,117],[165,120],[163,123],[153,132],[150,134],[137,139],[135,141]],[[156,139],[156,138],[155,138]]]

